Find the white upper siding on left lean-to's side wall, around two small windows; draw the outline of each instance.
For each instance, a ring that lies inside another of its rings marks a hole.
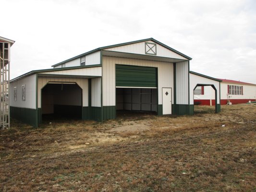
[[[22,100],[22,85],[25,84],[25,101]],[[17,101],[14,101],[14,87],[17,87]],[[10,106],[36,108],[36,74],[10,83]]]

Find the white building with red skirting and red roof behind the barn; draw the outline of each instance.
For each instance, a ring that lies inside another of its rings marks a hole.
[[[219,79],[220,82],[220,104],[247,103],[256,101],[256,84],[241,81]],[[215,92],[210,86],[198,86],[194,90],[195,105],[215,105]]]

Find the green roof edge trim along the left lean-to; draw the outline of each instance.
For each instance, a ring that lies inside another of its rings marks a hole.
[[[42,70],[34,70],[31,72],[27,72],[21,76],[18,76],[14,79],[12,79],[10,82],[14,82],[17,81],[19,79],[22,79],[24,77],[27,77],[29,75],[33,75],[33,74],[37,74],[40,72],[56,72],[56,71],[65,71],[65,70],[74,70],[74,69],[84,69],[84,68],[92,68],[92,67],[101,67],[101,64],[97,64],[97,65],[85,65],[85,66],[77,66],[77,67],[63,67],[63,68],[54,68],[54,69],[42,69]]]

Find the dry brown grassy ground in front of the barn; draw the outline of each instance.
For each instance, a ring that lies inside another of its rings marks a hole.
[[[0,131],[2,192],[256,191],[256,104],[11,126]]]

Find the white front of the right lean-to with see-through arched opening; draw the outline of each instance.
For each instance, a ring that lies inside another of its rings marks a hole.
[[[198,86],[211,86],[215,91],[215,113],[220,112],[220,82],[221,80],[197,72],[190,72],[190,103],[194,104],[194,91]]]

